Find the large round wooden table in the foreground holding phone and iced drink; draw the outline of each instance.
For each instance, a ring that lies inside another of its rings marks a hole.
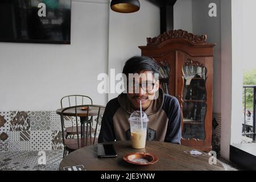
[[[87,146],[71,152],[61,161],[59,170],[64,167],[84,165],[87,171],[120,171],[120,170],[225,170],[217,160],[217,164],[209,164],[209,155],[191,156],[184,151],[191,151],[192,148],[167,142],[147,141],[146,148],[134,149],[130,141],[109,142],[113,143],[117,158],[97,158],[97,144]],[[150,152],[158,156],[155,164],[148,166],[137,166],[123,160],[123,156],[133,152]],[[204,153],[205,154],[205,153]]]

